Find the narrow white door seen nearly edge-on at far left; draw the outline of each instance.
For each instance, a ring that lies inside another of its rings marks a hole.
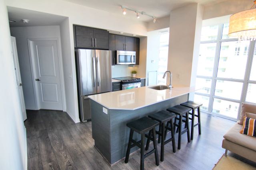
[[[25,107],[24,96],[23,96],[22,82],[20,77],[20,66],[18,61],[18,53],[17,53],[15,37],[11,37],[11,41],[12,41],[12,57],[13,57],[13,63],[14,63],[14,69],[15,69],[15,76],[16,76],[16,87],[17,87],[17,90],[19,91],[18,97],[20,98],[20,106],[22,109],[23,121],[25,121],[27,119],[27,114],[26,114],[26,107]]]

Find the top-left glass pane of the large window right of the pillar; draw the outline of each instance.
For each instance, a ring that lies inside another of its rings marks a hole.
[[[201,41],[216,40],[218,36],[218,25],[202,27]]]

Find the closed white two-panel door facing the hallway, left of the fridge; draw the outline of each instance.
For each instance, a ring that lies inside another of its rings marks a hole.
[[[28,40],[38,109],[63,110],[57,40]]]

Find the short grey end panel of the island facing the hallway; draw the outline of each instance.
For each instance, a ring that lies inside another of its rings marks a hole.
[[[110,116],[103,112],[103,106],[90,99],[92,113],[92,138],[94,146],[110,163]],[[109,112],[109,110],[108,110]]]

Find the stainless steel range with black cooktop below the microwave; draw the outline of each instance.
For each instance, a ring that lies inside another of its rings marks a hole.
[[[122,90],[141,87],[141,80],[140,80],[140,78],[135,78],[135,77],[118,77],[118,78],[113,78],[113,79],[121,81]]]

